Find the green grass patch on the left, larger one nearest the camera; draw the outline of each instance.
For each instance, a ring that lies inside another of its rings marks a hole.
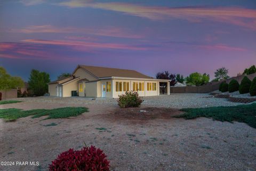
[[[6,121],[13,121],[18,118],[33,116],[32,118],[39,118],[48,116],[45,119],[68,118],[81,115],[87,112],[88,109],[84,107],[66,107],[57,109],[34,109],[34,110],[21,110],[21,109],[0,109],[0,118]]]

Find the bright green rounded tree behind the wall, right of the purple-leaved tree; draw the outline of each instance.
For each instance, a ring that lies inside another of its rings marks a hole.
[[[202,75],[198,72],[194,72],[194,73],[190,74],[188,77],[186,77],[187,85],[200,86],[205,83],[208,83],[209,80],[210,80],[210,76],[209,76],[209,74],[207,75],[206,73],[204,73]]]

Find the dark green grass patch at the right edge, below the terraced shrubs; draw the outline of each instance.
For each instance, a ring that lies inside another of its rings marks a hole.
[[[237,105],[234,107],[210,107],[181,109],[185,113],[177,118],[194,119],[198,117],[213,118],[219,121],[238,121],[256,128],[256,103]]]

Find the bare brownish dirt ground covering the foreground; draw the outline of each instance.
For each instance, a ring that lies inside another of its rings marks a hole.
[[[107,104],[21,102],[0,109],[67,106],[90,112],[69,119],[0,119],[0,161],[39,161],[39,166],[0,170],[47,170],[60,152],[81,149],[84,142],[107,154],[111,170],[256,170],[256,129],[244,123],[185,120],[172,117],[178,109]],[[58,125],[46,126],[51,123]]]

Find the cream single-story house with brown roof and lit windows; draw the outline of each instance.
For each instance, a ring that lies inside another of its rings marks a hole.
[[[117,98],[126,91],[138,91],[140,96],[159,95],[159,82],[167,83],[170,94],[167,79],[155,79],[134,70],[78,65],[70,77],[48,85],[50,96]]]

